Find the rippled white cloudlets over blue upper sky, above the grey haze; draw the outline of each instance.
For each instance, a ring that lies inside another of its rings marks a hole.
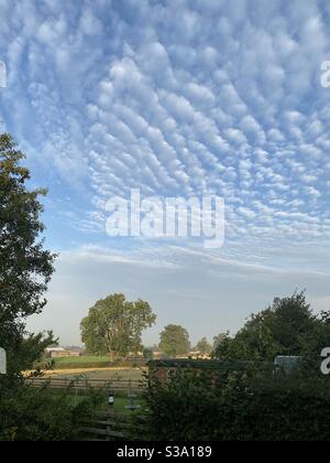
[[[218,194],[216,257],[327,270],[329,2],[0,0],[0,118],[51,186],[57,247],[109,245],[105,203],[133,187]]]

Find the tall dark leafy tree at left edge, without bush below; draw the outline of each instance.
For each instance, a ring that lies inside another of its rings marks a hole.
[[[21,165],[24,158],[10,134],[0,136],[0,346],[8,353],[7,379],[28,366],[26,358],[30,364],[36,359],[32,352],[40,352],[37,343],[50,342],[43,335],[26,340],[25,333],[26,319],[46,304],[44,293],[56,256],[44,249],[41,238],[44,225],[38,197],[46,191],[28,190],[30,172]]]

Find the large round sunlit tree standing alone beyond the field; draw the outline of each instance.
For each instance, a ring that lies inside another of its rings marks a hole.
[[[144,330],[156,321],[147,302],[139,299],[129,302],[123,294],[108,295],[99,300],[80,324],[81,340],[89,353],[95,355],[127,356],[143,347]]]

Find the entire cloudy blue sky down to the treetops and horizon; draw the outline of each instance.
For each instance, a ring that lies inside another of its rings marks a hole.
[[[44,314],[79,344],[112,292],[191,341],[238,331],[274,297],[330,305],[330,60],[327,0],[0,0],[0,119],[47,186],[59,254]],[[107,235],[107,202],[226,201],[226,239]]]

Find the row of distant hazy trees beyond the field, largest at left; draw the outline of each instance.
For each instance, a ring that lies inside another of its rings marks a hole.
[[[142,345],[142,334],[156,322],[156,314],[145,301],[128,301],[124,294],[110,294],[96,302],[80,323],[81,341],[91,355],[109,355],[111,362],[143,353],[146,359],[155,352],[170,357],[188,355],[195,351],[201,355],[211,354],[227,338],[220,334],[210,344],[202,337],[191,346],[188,331],[177,324],[164,327],[160,344],[153,347]]]

